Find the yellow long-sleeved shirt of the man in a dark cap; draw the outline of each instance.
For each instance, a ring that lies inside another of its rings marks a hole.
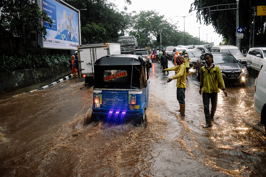
[[[205,66],[200,70],[200,88],[205,93],[218,93],[220,92],[218,87],[225,90],[225,83],[219,66],[214,65],[208,70]]]

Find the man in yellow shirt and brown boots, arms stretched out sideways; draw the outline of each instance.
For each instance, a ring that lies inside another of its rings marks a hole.
[[[186,67],[185,67],[185,60],[182,55],[178,55],[176,57],[177,66],[172,68],[166,68],[163,70],[165,71],[177,71],[177,74],[173,77],[167,79],[167,82],[171,82],[173,79],[176,79],[176,98],[179,102],[180,109],[180,116],[185,115],[185,91],[186,91]]]

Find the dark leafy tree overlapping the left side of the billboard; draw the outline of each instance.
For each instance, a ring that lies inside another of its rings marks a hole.
[[[13,49],[15,54],[23,54],[21,46],[24,37],[29,33],[42,33],[44,38],[47,36],[46,28],[41,22],[52,24],[52,19],[46,12],[40,11],[35,3],[3,0],[0,9],[0,34],[2,39],[10,40],[8,49]],[[12,52],[9,51],[10,53]]]

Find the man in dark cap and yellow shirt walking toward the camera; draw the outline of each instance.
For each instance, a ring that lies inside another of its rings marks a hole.
[[[223,81],[222,73],[219,66],[213,64],[213,55],[211,53],[205,54],[206,65],[201,67],[200,70],[200,95],[202,95],[204,114],[206,119],[206,125],[203,128],[211,127],[211,120],[217,107],[217,97],[218,97],[218,85],[223,90],[225,97],[227,97],[227,92],[225,90],[225,83]],[[211,99],[211,114],[209,110]]]

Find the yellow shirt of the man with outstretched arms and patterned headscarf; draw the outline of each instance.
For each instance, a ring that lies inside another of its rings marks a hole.
[[[176,79],[176,87],[186,88],[186,67],[185,63],[180,66],[174,66],[172,68],[166,68],[165,71],[177,71],[177,74],[171,77],[172,80]]]

